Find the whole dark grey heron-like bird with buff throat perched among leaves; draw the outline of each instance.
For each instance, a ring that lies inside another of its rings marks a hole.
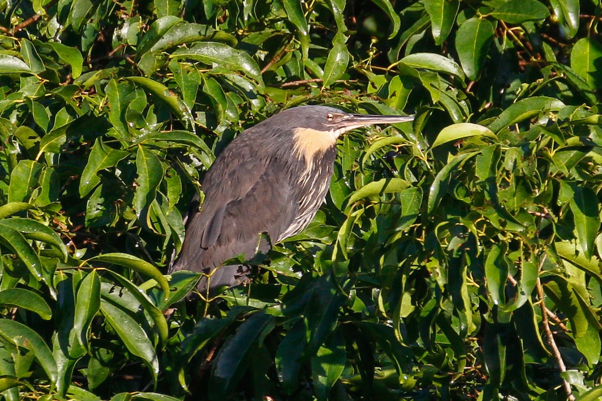
[[[205,296],[247,283],[249,265],[224,262],[267,253],[270,242],[281,242],[308,226],[326,198],[341,135],[372,124],[412,120],[306,105],[244,130],[205,174],[204,201],[200,205],[198,195],[191,201],[184,242],[169,272],[201,272],[197,291]]]

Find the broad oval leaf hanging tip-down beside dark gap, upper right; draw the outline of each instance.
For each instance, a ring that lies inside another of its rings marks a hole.
[[[458,28],[456,50],[462,69],[471,81],[479,78],[493,37],[494,26],[485,18],[473,17]]]

